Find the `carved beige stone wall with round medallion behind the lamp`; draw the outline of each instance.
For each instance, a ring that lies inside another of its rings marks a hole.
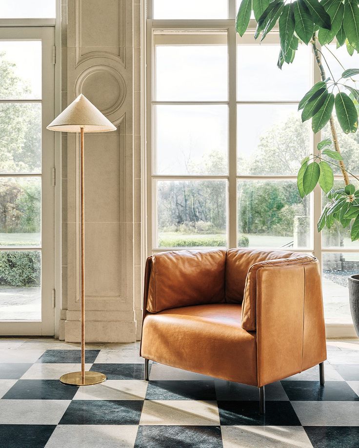
[[[63,0],[62,106],[83,93],[117,131],[85,134],[86,341],[140,335],[140,0]],[[60,339],[80,340],[79,136],[62,135]]]

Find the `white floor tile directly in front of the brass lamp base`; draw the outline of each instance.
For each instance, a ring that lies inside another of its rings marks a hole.
[[[144,400],[148,382],[107,380],[94,386],[80,386],[74,400]]]

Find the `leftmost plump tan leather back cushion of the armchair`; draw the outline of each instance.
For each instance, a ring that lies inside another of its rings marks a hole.
[[[225,263],[222,249],[153,255],[147,311],[224,302]]]

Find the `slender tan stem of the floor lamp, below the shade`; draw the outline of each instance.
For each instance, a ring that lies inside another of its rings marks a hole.
[[[85,384],[85,175],[84,175],[84,132],[81,131],[81,156],[80,156],[80,171],[81,171],[81,384]]]

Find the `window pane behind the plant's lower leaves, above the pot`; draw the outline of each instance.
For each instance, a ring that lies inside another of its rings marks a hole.
[[[344,187],[344,182],[335,181],[334,188],[342,188]],[[329,202],[327,195],[324,191],[321,192],[321,203],[322,207]],[[352,221],[353,223],[353,221]],[[332,225],[330,229],[324,227],[321,231],[322,245],[323,247],[350,247],[350,248],[358,248],[359,250],[359,241],[352,241],[350,238],[350,231],[352,225],[350,224],[345,229],[341,224],[337,221]]]

